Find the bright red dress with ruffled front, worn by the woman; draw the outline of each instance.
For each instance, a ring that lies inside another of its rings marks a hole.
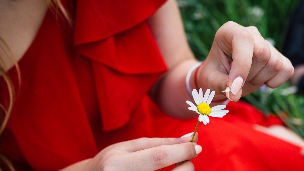
[[[146,22],[163,3],[78,0],[74,30],[46,13],[19,61],[19,90],[16,70],[9,71],[19,93],[0,144],[17,168],[57,170],[116,142],[194,130],[197,118],[170,118],[147,96],[167,70]],[[299,147],[253,129],[268,118],[241,102],[227,108],[224,118],[199,125],[196,170],[304,169]]]

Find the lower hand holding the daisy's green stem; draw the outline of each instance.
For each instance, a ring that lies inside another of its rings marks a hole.
[[[192,134],[193,135],[193,134]],[[183,138],[139,138],[110,145],[94,158],[87,160],[87,170],[157,170],[175,164],[174,171],[194,170],[190,159],[196,157],[202,147],[192,135]],[[81,162],[76,163],[81,164]],[[65,170],[64,169],[64,170]]]

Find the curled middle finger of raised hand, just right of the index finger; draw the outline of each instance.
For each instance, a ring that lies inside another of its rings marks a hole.
[[[254,38],[254,51],[251,68],[247,77],[247,81],[252,80],[260,70],[266,65],[271,57],[271,49],[267,41],[261,36],[258,29],[254,26],[245,27]]]

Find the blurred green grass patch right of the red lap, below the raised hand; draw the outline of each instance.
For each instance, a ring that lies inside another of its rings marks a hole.
[[[304,96],[298,93],[298,87],[290,86],[288,82],[275,89],[264,85],[245,96],[244,100],[265,115],[278,115],[285,125],[304,139]]]

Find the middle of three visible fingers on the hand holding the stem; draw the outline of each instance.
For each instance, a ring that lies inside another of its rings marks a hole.
[[[202,151],[194,142],[161,145],[150,149],[124,154],[119,157],[126,170],[157,170],[172,164],[190,160]],[[132,163],[132,165],[130,165]],[[137,168],[137,169],[136,169]]]

